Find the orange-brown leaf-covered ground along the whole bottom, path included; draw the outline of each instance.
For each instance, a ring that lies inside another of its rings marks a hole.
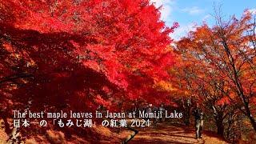
[[[138,134],[129,143],[228,143],[210,131],[204,131],[203,138],[196,139],[192,127],[179,124],[159,123],[157,126],[138,128],[138,131]],[[134,133],[125,128],[110,130],[103,126],[92,128],[92,132],[94,136],[97,135],[99,143],[120,143]],[[0,143],[5,143],[8,137],[4,130],[0,130],[0,135]],[[67,139],[62,132],[48,130],[46,135],[26,139],[26,143],[94,143],[94,136],[90,139],[73,135]]]

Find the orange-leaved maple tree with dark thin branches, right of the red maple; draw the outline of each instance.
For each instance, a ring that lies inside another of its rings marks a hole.
[[[215,26],[198,26],[176,43],[176,93],[204,104],[221,135],[239,112],[256,130],[255,18],[249,10],[228,21],[217,14]]]

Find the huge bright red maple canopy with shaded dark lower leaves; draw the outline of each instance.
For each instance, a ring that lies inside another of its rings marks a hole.
[[[1,106],[94,110],[165,101],[155,84],[170,77],[167,46],[177,26],[166,27],[148,0],[2,1]]]

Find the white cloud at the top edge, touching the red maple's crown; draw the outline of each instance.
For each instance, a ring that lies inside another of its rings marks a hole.
[[[154,4],[157,8],[162,6],[161,19],[162,21],[170,21],[171,13],[173,12],[174,0],[150,0],[151,3]]]

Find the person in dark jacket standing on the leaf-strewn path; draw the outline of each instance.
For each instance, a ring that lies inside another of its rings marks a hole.
[[[202,138],[203,112],[199,108],[198,103],[192,111],[192,114],[194,115],[195,136],[196,138]]]

